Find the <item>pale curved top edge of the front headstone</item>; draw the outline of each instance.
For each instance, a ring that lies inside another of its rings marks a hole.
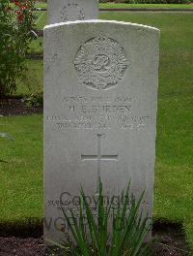
[[[86,23],[86,24],[102,24],[102,23],[111,23],[111,24],[118,24],[118,25],[124,25],[124,26],[130,26],[130,27],[137,27],[137,28],[143,28],[147,30],[152,30],[154,32],[160,33],[160,30],[156,27],[148,26],[148,25],[143,25],[143,24],[138,24],[138,23],[131,23],[131,22],[124,22],[124,21],[117,21],[117,20],[103,20],[103,19],[89,19],[89,20],[75,20],[75,21],[68,21],[68,22],[61,22],[61,23],[55,23],[55,24],[50,24],[46,25],[43,30],[46,31],[50,28],[55,28],[55,27],[61,27],[61,26],[69,26],[69,25],[75,25],[75,24],[81,24],[81,23]]]

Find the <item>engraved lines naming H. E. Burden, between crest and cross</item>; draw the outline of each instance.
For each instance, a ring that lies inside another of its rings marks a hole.
[[[58,103],[59,104],[59,103]],[[150,114],[136,114],[135,98],[127,96],[64,96],[60,113],[51,112],[46,121],[58,130],[112,129],[140,130],[154,123]],[[58,108],[57,108],[58,109]],[[140,111],[139,111],[140,112]]]

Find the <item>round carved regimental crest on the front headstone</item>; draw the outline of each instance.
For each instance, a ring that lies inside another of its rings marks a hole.
[[[123,80],[128,65],[121,44],[103,35],[85,42],[74,60],[81,83],[96,90],[109,89]]]

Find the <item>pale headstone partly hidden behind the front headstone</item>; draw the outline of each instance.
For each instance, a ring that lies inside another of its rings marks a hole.
[[[48,0],[47,24],[98,18],[97,0]]]

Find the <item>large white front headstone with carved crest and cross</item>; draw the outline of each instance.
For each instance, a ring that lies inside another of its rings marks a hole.
[[[57,39],[57,40],[56,40]],[[88,20],[44,29],[45,238],[68,231],[82,185],[109,198],[131,179],[152,215],[159,30]]]

